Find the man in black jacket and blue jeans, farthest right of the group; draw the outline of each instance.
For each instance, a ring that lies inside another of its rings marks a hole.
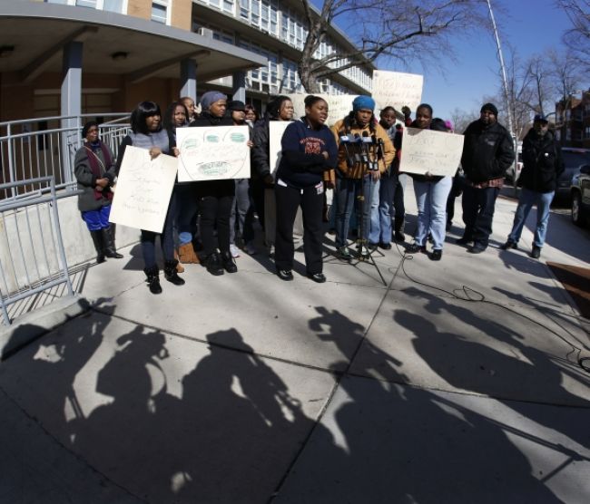
[[[533,205],[536,205],[536,229],[531,257],[538,259],[545,243],[549,205],[556,194],[557,179],[564,171],[561,149],[553,132],[549,131],[549,123],[544,115],[537,114],[533,128],[526,133],[523,141],[523,164],[517,181],[522,190],[518,198],[514,224],[508,240],[501,248],[518,248],[518,240],[528,213]]]

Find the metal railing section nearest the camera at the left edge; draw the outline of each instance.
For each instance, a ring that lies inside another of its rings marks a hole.
[[[74,296],[57,212],[53,177],[0,185],[0,190],[40,186],[26,195],[0,200],[0,308],[4,325],[9,306],[64,285]],[[77,194],[75,191],[74,194]],[[65,193],[62,197],[69,197]],[[23,310],[21,310],[23,311]]]

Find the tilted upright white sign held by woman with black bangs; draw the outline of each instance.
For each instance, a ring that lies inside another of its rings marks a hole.
[[[178,161],[128,146],[121,163],[109,220],[130,228],[162,233]]]

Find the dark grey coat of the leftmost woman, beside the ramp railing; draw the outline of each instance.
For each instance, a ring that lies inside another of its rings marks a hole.
[[[113,185],[115,179],[115,159],[113,151],[109,149],[108,145],[99,141],[100,144],[104,145],[109,152],[111,157],[111,164],[107,166],[107,162],[104,160],[103,150],[98,147],[92,149],[92,153],[88,151],[86,146],[81,147],[77,150],[74,158],[74,175],[78,181],[78,189],[84,192],[78,196],[78,209],[81,212],[89,210],[98,210],[105,205],[111,204],[111,198],[109,198],[110,189],[106,187],[103,191],[96,191],[96,179],[109,179],[109,186]],[[90,166],[88,156],[96,155],[98,158],[98,167],[101,171],[100,177],[97,177]],[[113,196],[113,193],[110,195]]]

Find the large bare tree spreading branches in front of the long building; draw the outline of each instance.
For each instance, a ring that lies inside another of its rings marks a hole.
[[[378,58],[425,62],[449,54],[450,35],[465,33],[481,19],[478,0],[324,0],[320,9],[310,0],[300,2],[308,35],[298,70],[307,92],[320,92],[322,79]],[[320,56],[336,20],[349,21],[353,47]]]

